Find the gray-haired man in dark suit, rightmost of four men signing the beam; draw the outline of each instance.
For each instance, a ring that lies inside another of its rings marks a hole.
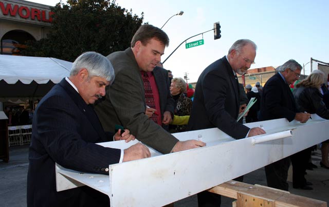
[[[263,88],[261,98],[260,120],[286,118],[305,123],[310,114],[297,112],[293,93],[289,85],[300,77],[302,66],[295,60],[289,60],[280,66],[277,74],[272,76]],[[288,191],[288,168],[290,158],[284,158],[265,166],[266,180],[269,187]]]

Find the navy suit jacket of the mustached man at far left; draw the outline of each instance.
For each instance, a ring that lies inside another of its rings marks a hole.
[[[87,186],[56,192],[55,162],[73,170],[108,174],[120,149],[94,144],[110,141],[92,106],[63,79],[40,101],[33,115],[29,148],[27,206],[98,206],[105,194]],[[112,139],[113,140],[113,139]]]

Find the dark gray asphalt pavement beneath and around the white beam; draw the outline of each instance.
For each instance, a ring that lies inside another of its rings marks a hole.
[[[28,171],[28,145],[9,147],[9,162],[0,160],[0,205],[4,207],[26,206],[26,178]],[[292,194],[329,202],[329,170],[320,167],[321,151],[312,153],[312,162],[318,166],[313,171],[307,170],[305,178],[312,182],[314,190],[294,189],[289,183]],[[289,173],[290,175],[290,173]],[[288,177],[291,180],[291,176]],[[264,167],[244,176],[244,182],[266,186]],[[222,207],[232,206],[234,199],[222,196]],[[176,201],[175,207],[197,207],[196,195]]]

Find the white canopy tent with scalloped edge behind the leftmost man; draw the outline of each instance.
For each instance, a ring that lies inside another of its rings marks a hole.
[[[71,66],[56,58],[0,55],[0,101],[41,99]]]

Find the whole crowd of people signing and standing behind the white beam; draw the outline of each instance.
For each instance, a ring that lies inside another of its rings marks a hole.
[[[260,127],[249,128],[236,121],[252,97],[258,104],[250,109],[248,122],[286,118],[305,123],[310,113],[327,119],[329,112],[316,92],[318,83],[309,84],[318,73],[297,85],[295,101],[288,84],[299,79],[302,67],[294,60],[280,66],[262,92],[256,83],[247,86],[250,91],[246,94],[236,74],[244,74],[254,63],[257,46],[247,39],[237,40],[227,55],[200,74],[192,102],[186,96],[184,79],[173,78],[160,64],[168,44],[169,37],[161,29],[142,25],[126,50],[107,57],[85,52],[75,60],[70,76],[54,86],[34,112],[27,206],[109,206],[107,196],[88,186],[57,192],[55,162],[72,170],[108,174],[109,164],[150,157],[144,144],[163,154],[206,146],[197,140],[179,141],[170,132],[217,127],[234,139],[265,134]],[[297,99],[299,91],[311,86],[310,95],[321,104],[308,108],[309,103],[304,106],[304,99]],[[124,130],[115,132],[117,126]],[[96,144],[135,138],[141,142],[122,150]],[[305,149],[304,155],[306,158],[309,150]],[[303,163],[304,159],[295,166]],[[268,186],[288,190],[289,164],[290,158],[285,158],[265,167]],[[329,167],[327,160],[322,164]],[[305,189],[309,183],[299,179],[294,187]],[[198,194],[199,206],[220,204],[220,195]]]

